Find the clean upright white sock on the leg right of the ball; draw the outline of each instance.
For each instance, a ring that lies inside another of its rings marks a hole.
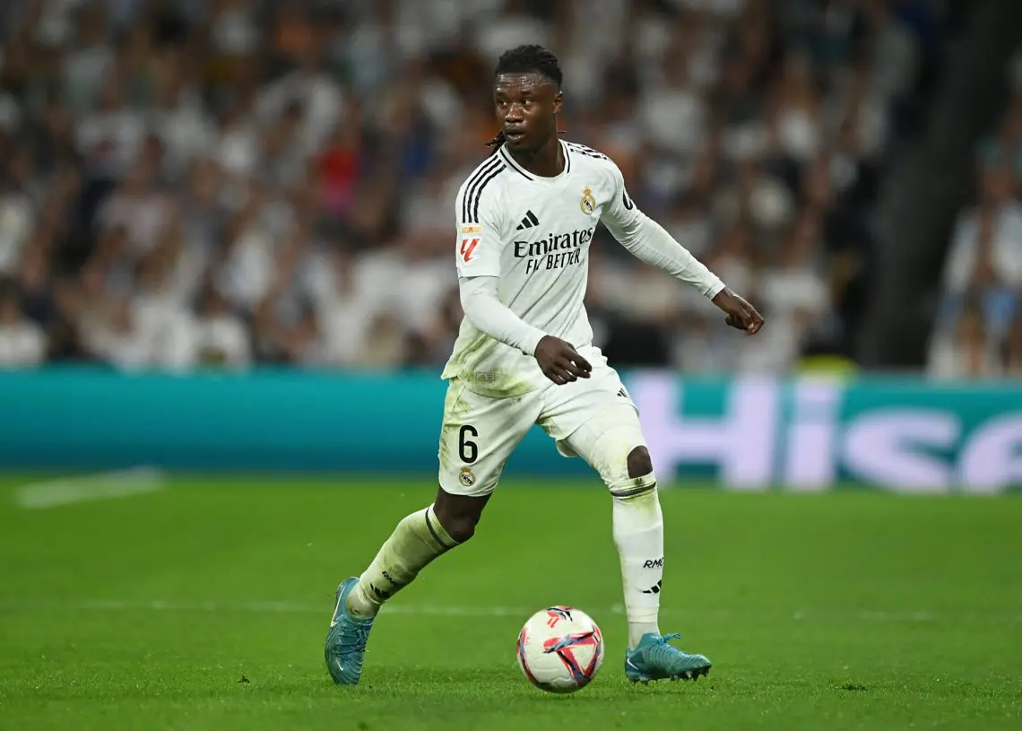
[[[663,582],[663,513],[656,485],[634,497],[614,496],[614,543],[621,559],[629,647],[648,632],[660,634],[660,588]]]

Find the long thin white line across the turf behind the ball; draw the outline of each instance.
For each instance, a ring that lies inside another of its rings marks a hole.
[[[167,611],[167,612],[210,612],[210,613],[250,613],[250,614],[329,614],[331,602],[313,604],[295,601],[169,601],[153,599],[121,600],[90,599],[61,602],[0,602],[0,611]],[[520,606],[459,606],[428,604],[385,604],[383,614],[404,614],[412,616],[461,616],[492,618],[516,616],[527,619],[536,608]],[[622,615],[621,605],[595,609],[594,615]],[[806,621],[858,621],[867,623],[932,623],[932,622],[991,622],[1002,624],[1022,624],[1020,612],[933,612],[933,611],[886,611],[878,609],[826,609],[796,611],[755,609],[693,609],[678,610],[664,608],[661,614],[668,616],[713,616],[716,619],[760,618],[768,620]]]

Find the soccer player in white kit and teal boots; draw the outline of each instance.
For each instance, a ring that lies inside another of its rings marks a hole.
[[[472,537],[508,456],[538,423],[564,456],[599,472],[612,498],[633,682],[705,675],[710,661],[668,643],[657,613],[663,520],[636,407],[592,344],[583,300],[589,247],[602,222],[628,250],[708,298],[727,324],[755,334],[763,319],[636,208],[604,154],[561,141],[561,70],[540,46],[501,56],[494,153],[455,203],[465,313],[444,369],[439,490],[405,517],[360,577],[337,588],[326,637],[334,682],[354,685],[380,606],[433,559]]]

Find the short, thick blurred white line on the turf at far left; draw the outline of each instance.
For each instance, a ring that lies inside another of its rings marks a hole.
[[[136,467],[22,485],[14,492],[14,502],[30,510],[53,508],[155,493],[164,489],[165,483],[160,470],[154,467]]]

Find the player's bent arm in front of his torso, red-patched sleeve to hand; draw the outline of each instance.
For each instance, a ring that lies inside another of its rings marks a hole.
[[[555,383],[588,378],[592,366],[570,344],[528,324],[501,302],[504,216],[493,189],[479,190],[472,181],[462,186],[455,202],[458,288],[465,317],[480,332],[535,356]]]

